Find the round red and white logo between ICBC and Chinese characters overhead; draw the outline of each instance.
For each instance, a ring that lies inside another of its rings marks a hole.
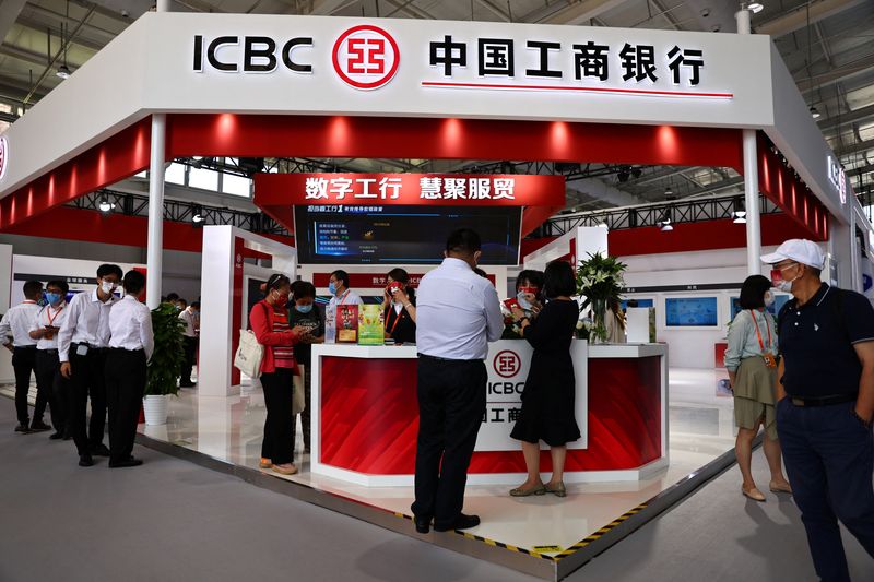
[[[361,90],[379,88],[394,76],[401,54],[386,31],[369,24],[353,26],[336,39],[334,70],[346,84]]]

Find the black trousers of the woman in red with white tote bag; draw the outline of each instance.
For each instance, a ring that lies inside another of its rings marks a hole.
[[[291,368],[276,368],[275,372],[261,375],[267,405],[261,456],[270,459],[274,465],[294,461],[293,376]]]

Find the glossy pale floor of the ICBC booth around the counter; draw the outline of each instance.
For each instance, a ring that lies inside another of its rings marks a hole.
[[[717,372],[672,369],[670,379],[671,464],[666,471],[639,483],[569,485],[565,499],[517,499],[507,495],[506,486],[469,486],[464,511],[483,519],[471,533],[528,549],[566,548],[730,450],[735,433],[732,401],[717,396]],[[172,399],[166,426],[140,425],[140,430],[227,462],[257,467],[264,414],[258,388],[246,387],[239,396],[226,399],[199,397],[197,389],[184,390],[180,397]],[[410,487],[366,488],[311,475],[299,432],[295,461],[300,467],[298,475],[276,478],[410,514]]]

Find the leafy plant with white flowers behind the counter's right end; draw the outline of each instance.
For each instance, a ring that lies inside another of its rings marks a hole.
[[[590,306],[592,309],[592,325],[589,333],[592,342],[606,340],[604,318],[609,306],[613,301],[618,301],[622,296],[622,288],[625,285],[623,273],[627,266],[614,257],[595,252],[589,253],[589,258],[580,261],[577,268],[577,294],[584,297],[580,312],[584,312]]]

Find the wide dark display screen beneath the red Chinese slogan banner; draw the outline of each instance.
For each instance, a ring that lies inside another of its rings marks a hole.
[[[438,264],[456,228],[476,230],[480,264],[519,264],[518,206],[295,206],[302,264]]]

